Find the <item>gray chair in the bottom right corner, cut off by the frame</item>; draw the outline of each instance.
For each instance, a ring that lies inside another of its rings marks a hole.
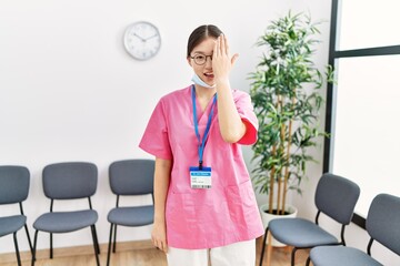
[[[310,252],[309,259],[314,266],[378,266],[382,265],[371,257],[376,241],[400,255],[400,197],[379,194],[369,208],[366,229],[370,235],[367,253],[354,247],[320,246]]]

